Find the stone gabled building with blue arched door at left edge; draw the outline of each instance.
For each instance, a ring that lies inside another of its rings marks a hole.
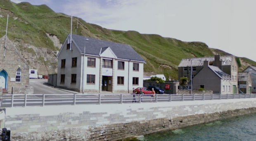
[[[4,47],[6,53],[4,56]],[[12,87],[29,85],[28,63],[18,52],[11,40],[0,39],[0,87],[3,93],[11,93]]]

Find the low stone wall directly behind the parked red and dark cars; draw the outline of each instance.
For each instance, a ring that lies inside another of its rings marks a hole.
[[[165,85],[169,85],[170,89],[166,90]],[[165,83],[156,83],[156,81],[143,81],[143,87],[149,87],[149,86],[157,86],[160,89],[164,90],[164,93],[167,94],[176,94],[178,92],[178,81],[165,81]]]

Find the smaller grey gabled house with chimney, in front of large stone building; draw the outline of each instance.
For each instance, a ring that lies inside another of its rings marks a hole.
[[[230,81],[232,80],[229,74],[209,65],[209,61],[205,60],[203,68],[193,78],[192,87],[212,90],[216,94],[232,94]]]

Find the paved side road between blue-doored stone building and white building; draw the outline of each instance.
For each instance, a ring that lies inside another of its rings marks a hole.
[[[29,79],[29,85],[34,87],[34,94],[75,94],[77,92],[52,88],[47,85],[47,79]]]

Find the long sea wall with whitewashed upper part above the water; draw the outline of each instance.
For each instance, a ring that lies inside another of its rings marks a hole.
[[[255,98],[14,107],[6,108],[5,127],[20,141],[110,141],[254,113],[255,107]]]

